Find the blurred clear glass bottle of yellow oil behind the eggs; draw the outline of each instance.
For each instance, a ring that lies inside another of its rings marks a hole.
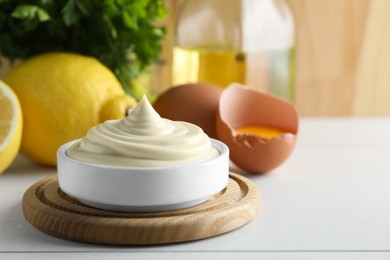
[[[172,83],[239,82],[293,101],[294,29],[284,0],[184,0]]]

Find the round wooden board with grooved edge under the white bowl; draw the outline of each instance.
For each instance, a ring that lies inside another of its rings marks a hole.
[[[23,213],[47,234],[90,243],[147,245],[191,241],[232,231],[250,222],[260,208],[260,192],[231,173],[228,186],[195,207],[157,213],[107,211],[86,206],[58,187],[57,177],[32,185]]]

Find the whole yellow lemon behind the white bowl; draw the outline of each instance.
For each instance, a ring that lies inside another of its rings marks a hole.
[[[33,57],[12,69],[4,81],[23,111],[21,152],[46,165],[56,165],[62,144],[83,137],[104,120],[124,117],[126,111],[119,108],[136,105],[107,67],[78,54]]]

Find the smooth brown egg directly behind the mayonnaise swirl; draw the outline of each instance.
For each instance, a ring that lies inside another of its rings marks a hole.
[[[216,138],[215,117],[223,88],[208,83],[172,87],[157,97],[154,109],[161,117],[195,124]]]

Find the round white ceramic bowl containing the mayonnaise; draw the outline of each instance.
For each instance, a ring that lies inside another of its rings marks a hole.
[[[229,149],[217,140],[219,156],[204,162],[170,167],[115,167],[85,163],[57,152],[62,191],[82,203],[107,210],[155,212],[198,205],[223,190],[229,179]]]

